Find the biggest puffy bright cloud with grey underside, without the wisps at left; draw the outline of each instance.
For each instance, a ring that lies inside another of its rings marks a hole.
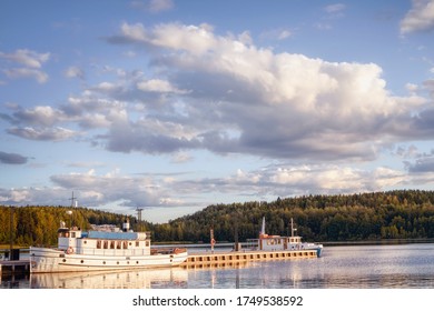
[[[176,23],[120,28],[122,42],[160,50],[154,63],[172,72],[170,81],[156,84],[167,91],[172,84],[189,90],[183,112],[214,124],[225,122],[226,131],[219,126],[208,131],[196,128],[203,147],[283,158],[372,159],[384,134],[401,134],[398,122],[416,124],[410,111],[424,99],[391,94],[377,64],[274,53],[213,31],[206,24]]]

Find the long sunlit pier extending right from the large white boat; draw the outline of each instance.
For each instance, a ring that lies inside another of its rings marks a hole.
[[[241,251],[241,252],[207,252],[191,253],[180,267],[183,268],[219,268],[245,264],[254,261],[290,260],[317,258],[316,250],[292,251]]]

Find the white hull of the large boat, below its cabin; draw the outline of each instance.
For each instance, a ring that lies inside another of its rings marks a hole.
[[[108,271],[176,267],[187,259],[187,252],[156,254],[101,254],[66,253],[63,250],[30,248],[30,272]]]

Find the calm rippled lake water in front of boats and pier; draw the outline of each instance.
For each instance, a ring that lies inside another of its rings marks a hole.
[[[326,247],[319,259],[218,269],[36,274],[3,278],[0,288],[434,288],[434,243]]]

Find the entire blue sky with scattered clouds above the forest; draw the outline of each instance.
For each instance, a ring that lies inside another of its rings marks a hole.
[[[434,0],[0,2],[0,204],[166,222],[434,190]]]

